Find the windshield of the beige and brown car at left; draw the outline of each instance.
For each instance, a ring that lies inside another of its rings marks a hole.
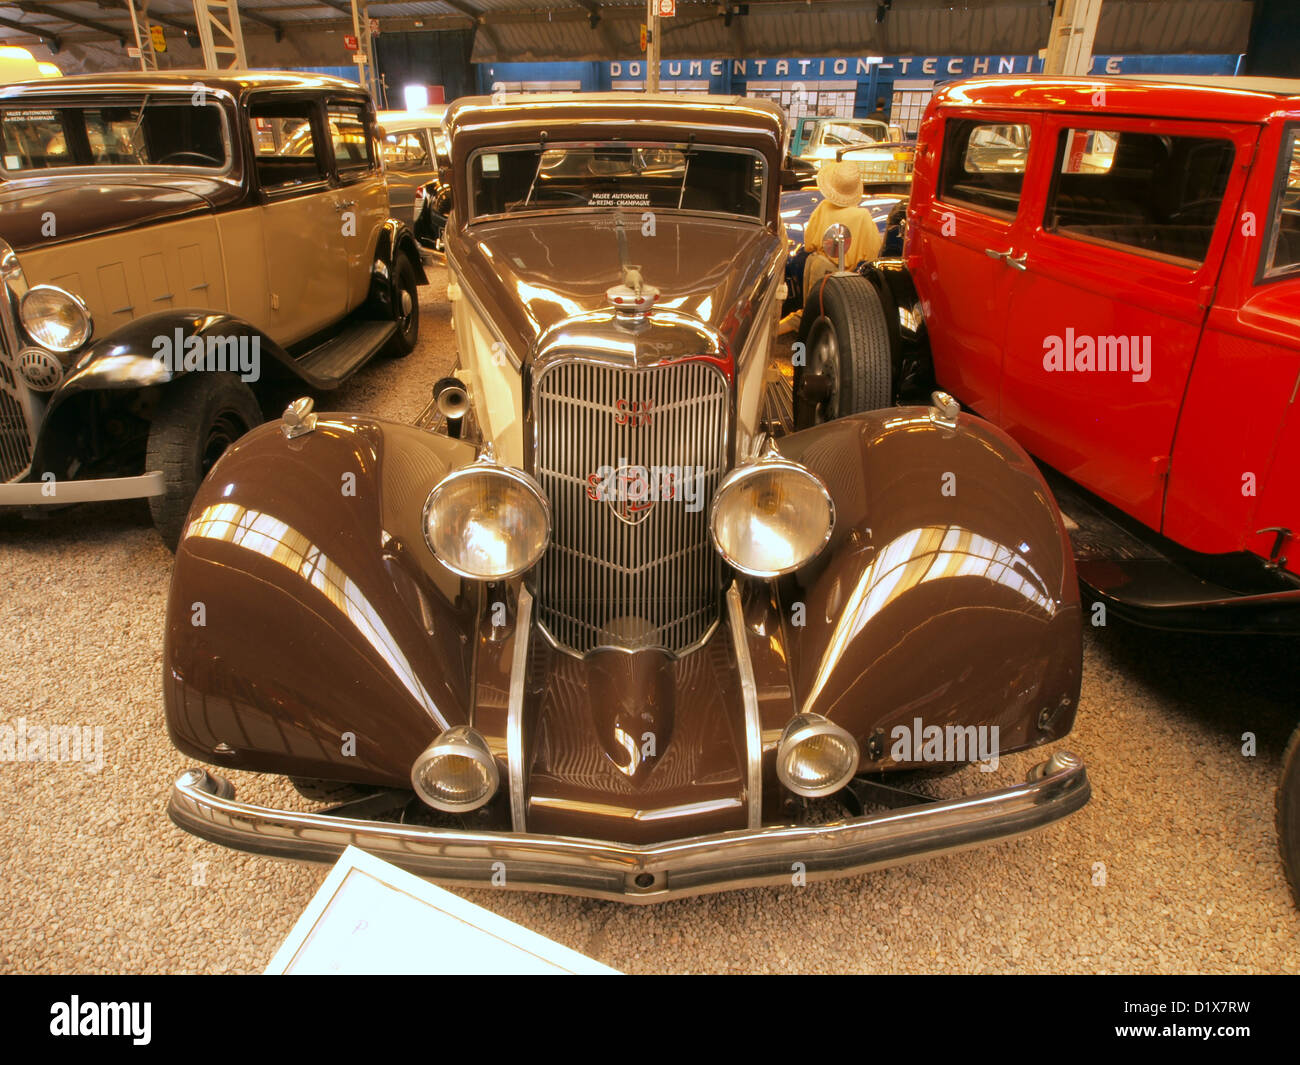
[[[0,105],[5,172],[226,165],[225,124],[216,103],[195,107],[188,94],[101,100]]]

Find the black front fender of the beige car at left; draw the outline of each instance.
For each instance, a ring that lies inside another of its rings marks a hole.
[[[292,356],[257,326],[240,317],[198,309],[143,315],[94,341],[62,384],[49,395],[36,438],[32,469],[62,476],[87,454],[84,436],[99,419],[125,411],[146,421],[146,398],[187,372],[185,350],[198,337],[208,351],[224,354],[230,371],[256,389],[266,377],[296,376]],[[181,359],[173,352],[181,352]],[[247,372],[246,372],[247,371]]]

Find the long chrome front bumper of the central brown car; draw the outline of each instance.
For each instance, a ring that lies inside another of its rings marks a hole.
[[[207,770],[183,772],[168,815],[203,839],[308,861],[354,845],[420,876],[464,887],[508,887],[662,902],[760,884],[790,886],[900,865],[1009,839],[1080,809],[1083,763],[1058,752],[1023,784],[815,826],[736,830],[636,847],[526,832],[474,832],[270,810],[238,802]]]

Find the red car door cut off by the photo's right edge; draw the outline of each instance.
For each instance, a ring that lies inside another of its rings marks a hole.
[[[1260,139],[1187,388],[1165,536],[1300,573],[1300,124]],[[1288,534],[1279,534],[1284,529]]]

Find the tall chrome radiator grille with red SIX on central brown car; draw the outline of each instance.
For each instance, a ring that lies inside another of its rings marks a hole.
[[[554,538],[536,571],[537,612],[555,642],[681,653],[708,633],[722,585],[708,505],[728,406],[727,381],[703,362],[566,360],[538,375],[534,472]],[[644,492],[655,471],[658,490]]]

